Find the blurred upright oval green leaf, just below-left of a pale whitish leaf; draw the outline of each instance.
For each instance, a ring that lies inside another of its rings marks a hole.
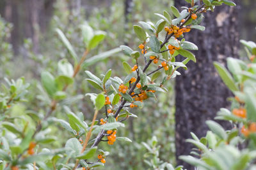
[[[47,71],[43,71],[41,73],[41,81],[47,94],[52,97],[54,93],[57,92],[56,82],[52,74]]]

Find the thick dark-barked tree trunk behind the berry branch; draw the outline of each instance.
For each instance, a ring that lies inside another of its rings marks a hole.
[[[188,3],[175,0],[175,6],[180,8],[188,6]],[[232,94],[221,81],[212,62],[225,64],[226,57],[237,56],[237,13],[236,7],[216,6],[214,13],[205,15],[202,22],[206,27],[204,32],[193,30],[185,35],[188,41],[199,48],[194,52],[197,62],[189,62],[188,71],[180,70],[182,75],[177,77],[175,83],[176,158],[177,164],[187,169],[193,168],[178,157],[191,152],[192,145],[185,142],[191,138],[190,132],[199,138],[205,136],[208,130],[205,120],[213,119],[220,108],[230,106],[227,97]]]

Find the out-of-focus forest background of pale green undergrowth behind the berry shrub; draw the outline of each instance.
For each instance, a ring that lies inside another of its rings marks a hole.
[[[239,20],[244,24],[250,23],[241,28],[243,32],[241,38],[255,41],[256,36],[248,34],[248,30],[253,30],[252,27],[256,25],[253,1],[243,1],[243,9],[249,10],[243,10]],[[44,93],[40,85],[40,73],[42,70],[47,70],[54,74],[58,60],[70,56],[56,33],[56,28],[64,32],[79,56],[84,52],[83,36],[81,36],[83,24],[89,24],[94,30],[107,32],[106,39],[99,48],[90,53],[88,58],[120,45],[138,49],[139,41],[135,38],[132,25],[141,20],[156,22],[157,16],[154,13],[162,13],[172,4],[172,0],[1,1],[0,83],[4,82],[4,77],[15,80],[24,76],[31,84],[28,89],[28,101],[13,106],[12,114],[22,115],[28,110],[36,110],[40,115],[49,106],[46,95],[42,95]],[[86,120],[92,120],[93,106],[89,97],[77,95],[93,90],[87,81],[84,81],[84,70],[100,75],[111,68],[114,76],[122,76],[125,74],[122,61],[131,63],[129,57],[116,53],[108,59],[84,67],[77,76],[76,83],[67,89],[70,94],[69,99],[63,102],[72,106],[72,110],[76,112],[82,111]],[[146,169],[147,164],[143,160],[147,157],[144,155],[147,149],[141,143],[149,142],[153,136],[156,136],[160,146],[159,158],[175,164],[174,83],[166,85],[169,90],[167,95],[159,94],[158,101],[148,101],[143,110],[134,109],[138,118],[130,119],[126,122],[126,127],[118,131],[118,135],[131,138],[133,143],[115,143],[111,147],[100,143],[111,152],[104,169]],[[56,117],[65,117],[62,110],[57,110],[56,115]],[[52,134],[58,138],[58,141],[51,146],[63,146],[68,134],[59,136],[58,131],[62,129],[53,122],[49,127]]]

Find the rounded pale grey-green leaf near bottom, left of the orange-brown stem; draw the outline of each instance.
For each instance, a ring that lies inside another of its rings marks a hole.
[[[65,144],[66,153],[74,152],[72,155],[77,156],[81,153],[82,150],[81,143],[76,138],[70,138]]]

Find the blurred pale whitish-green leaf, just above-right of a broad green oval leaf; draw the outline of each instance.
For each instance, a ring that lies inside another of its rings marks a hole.
[[[58,74],[72,77],[74,74],[73,66],[67,59],[58,62]]]

